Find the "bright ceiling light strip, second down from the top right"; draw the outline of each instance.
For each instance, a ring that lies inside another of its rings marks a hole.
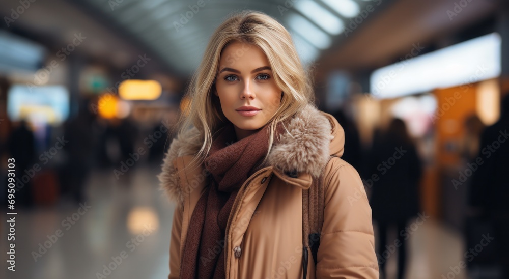
[[[343,32],[343,21],[316,2],[301,0],[297,2],[295,9],[313,20],[331,35],[338,35]]]

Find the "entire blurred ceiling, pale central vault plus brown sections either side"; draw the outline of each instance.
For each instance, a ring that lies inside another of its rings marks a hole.
[[[45,0],[31,3],[7,30],[54,50],[83,33],[87,39],[76,47],[76,54],[121,71],[147,54],[153,60],[144,71],[186,80],[216,26],[235,11],[252,9],[287,27],[302,61],[316,62],[320,75],[337,68],[358,72],[393,63],[412,44],[426,46],[490,16],[497,7],[495,0],[471,1],[450,20],[446,12],[455,1]],[[3,0],[0,15],[11,15],[19,5],[18,0]],[[359,23],[352,23],[355,20]]]

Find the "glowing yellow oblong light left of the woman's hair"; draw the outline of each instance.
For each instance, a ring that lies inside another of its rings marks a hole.
[[[129,79],[120,83],[119,95],[124,100],[155,100],[161,96],[161,90],[156,80]]]

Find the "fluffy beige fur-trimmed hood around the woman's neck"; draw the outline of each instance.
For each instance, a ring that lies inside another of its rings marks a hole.
[[[263,167],[274,166],[279,173],[307,174],[318,177],[331,155],[341,157],[344,151],[343,127],[330,114],[308,104],[286,123],[289,133],[272,146]],[[192,156],[202,147],[199,131],[191,128],[175,138],[164,156],[162,172],[158,175],[163,188],[172,200],[182,200],[174,160]],[[203,166],[201,168],[204,168]],[[179,170],[186,171],[186,170]],[[201,173],[201,171],[199,171]],[[185,177],[185,176],[184,176]]]

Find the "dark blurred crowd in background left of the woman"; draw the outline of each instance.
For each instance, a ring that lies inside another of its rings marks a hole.
[[[130,117],[104,119],[93,113],[91,103],[82,100],[75,117],[42,129],[25,120],[4,119],[2,175],[7,174],[7,158],[14,158],[18,205],[82,202],[94,171],[109,172],[118,184],[129,187],[131,170],[139,166],[160,168],[171,127],[161,133],[161,122],[150,127]],[[5,193],[0,196],[5,204]]]

